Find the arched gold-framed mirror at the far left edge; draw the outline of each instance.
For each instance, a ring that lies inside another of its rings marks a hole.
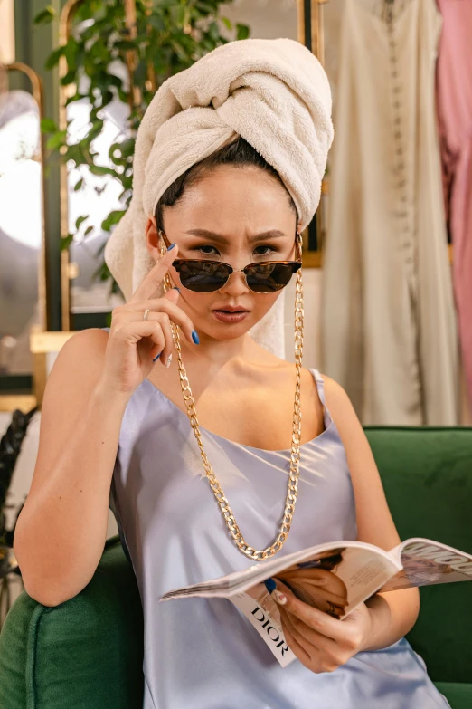
[[[36,404],[34,382],[42,369],[31,347],[33,330],[47,331],[43,91],[40,76],[23,62],[3,67],[3,149],[0,169],[2,308],[0,411]],[[10,90],[20,73],[31,92]],[[28,210],[21,203],[28,202]],[[18,218],[23,214],[23,218]],[[33,382],[33,385],[32,383]],[[19,393],[21,392],[21,393]]]

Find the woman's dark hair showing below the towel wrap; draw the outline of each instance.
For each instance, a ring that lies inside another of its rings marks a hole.
[[[203,158],[200,162],[195,163],[191,168],[188,168],[183,175],[177,177],[172,185],[169,185],[165,190],[164,194],[161,195],[159,201],[156,205],[156,223],[158,229],[164,229],[163,221],[163,207],[173,206],[176,202],[181,199],[184,195],[185,189],[195,185],[200,179],[204,177],[205,174],[210,172],[214,168],[218,168],[221,165],[237,165],[243,167],[245,165],[250,165],[255,168],[260,168],[269,173],[272,177],[276,177],[278,182],[287,192],[290,206],[297,214],[297,207],[289,194],[287,187],[285,187],[282,179],[278,175],[275,168],[272,168],[268,162],[258,151],[243,138],[238,138],[232,143],[224,145],[222,148],[215,150],[212,155],[208,158]]]

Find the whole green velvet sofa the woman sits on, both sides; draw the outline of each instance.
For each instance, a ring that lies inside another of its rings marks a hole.
[[[365,432],[401,539],[430,537],[472,553],[472,428]],[[471,601],[472,583],[421,589],[408,636],[452,709],[472,707]],[[0,707],[141,709],[142,661],[139,593],[117,536],[74,599],[56,608],[25,591],[16,599],[0,633]]]

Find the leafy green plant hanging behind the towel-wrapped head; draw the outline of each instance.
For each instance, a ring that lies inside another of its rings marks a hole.
[[[77,0],[73,5],[67,36],[50,54],[46,67],[53,69],[59,64],[66,105],[82,99],[90,101],[89,128],[74,142],[68,135],[69,122],[57,126],[53,120],[44,119],[42,130],[50,134],[46,146],[50,152],[59,154],[70,168],[86,168],[85,177],[78,179],[74,190],[84,187],[88,174],[118,180],[120,208],[103,219],[103,231],[111,231],[127,210],[137,126],[158,87],[203,54],[227,43],[223,27],[234,34],[234,39],[249,36],[247,25],[233,27],[227,17],[220,15],[224,4],[228,0]],[[48,5],[34,22],[44,24],[55,19],[54,10]],[[97,160],[93,141],[104,129],[104,109],[117,100],[128,107],[127,134],[109,147],[109,164],[103,165]],[[77,218],[75,230],[62,235],[61,249],[69,248],[78,235],[86,239],[94,234],[88,219],[88,215]],[[105,243],[95,255],[100,256],[104,248]],[[119,292],[104,261],[93,278],[110,280],[110,292]]]

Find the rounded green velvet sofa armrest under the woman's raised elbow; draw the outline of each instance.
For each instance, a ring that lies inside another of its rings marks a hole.
[[[143,616],[119,538],[90,584],[55,608],[26,591],[0,634],[1,709],[142,709]]]

